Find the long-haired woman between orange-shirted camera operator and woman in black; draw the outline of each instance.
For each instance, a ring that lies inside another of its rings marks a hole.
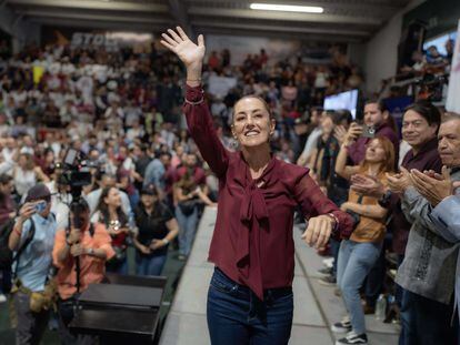
[[[128,216],[121,207],[121,196],[118,189],[108,186],[102,190],[91,221],[104,224],[112,237],[116,255],[107,262],[107,271],[128,274],[127,240],[131,232]]]

